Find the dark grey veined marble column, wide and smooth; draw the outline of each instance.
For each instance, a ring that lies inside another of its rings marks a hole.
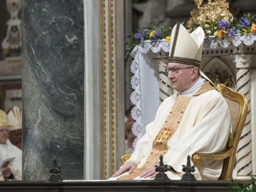
[[[84,178],[83,0],[22,1],[22,179]]]

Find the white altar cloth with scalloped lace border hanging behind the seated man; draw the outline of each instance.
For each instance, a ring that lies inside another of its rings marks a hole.
[[[244,36],[233,36],[224,39],[218,39],[209,36],[209,43],[204,47],[215,49],[217,47],[238,47],[241,43],[250,46],[256,42],[256,35],[248,34]],[[232,43],[232,44],[231,44]],[[137,138],[134,140],[135,148],[137,141],[145,134],[145,126],[154,121],[156,111],[159,107],[159,75],[157,63],[152,60],[158,57],[160,50],[169,52],[170,43],[165,39],[152,42],[150,40],[138,44],[130,54],[134,59],[131,65],[133,73],[131,84],[134,91],[130,100],[135,105],[132,109],[132,117],[136,120],[133,124],[132,131]],[[143,98],[145,98],[143,100]]]

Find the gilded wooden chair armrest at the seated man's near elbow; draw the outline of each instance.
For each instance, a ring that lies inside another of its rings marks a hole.
[[[227,157],[230,157],[232,154],[233,148],[228,148],[223,151],[217,152],[217,153],[194,153],[192,155],[192,161],[193,164],[196,165],[197,169],[199,170],[201,167],[201,163],[204,160],[213,160],[213,161],[219,161],[226,159]]]

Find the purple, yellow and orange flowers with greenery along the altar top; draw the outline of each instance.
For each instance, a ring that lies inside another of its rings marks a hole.
[[[184,22],[181,22],[184,25]],[[193,23],[190,32],[194,31],[200,25],[196,22]],[[216,37],[219,39],[224,39],[225,37],[232,37],[235,35],[246,35],[254,34],[256,35],[256,16],[251,16],[249,13],[244,14],[239,20],[228,18],[227,20],[206,22],[202,26],[206,36],[204,37],[204,42],[209,43],[209,37]],[[130,53],[135,48],[135,46],[145,40],[151,40],[152,42],[165,39],[166,41],[171,41],[171,26],[167,23],[162,24],[160,27],[156,27],[154,23],[151,23],[149,27],[142,28],[142,30],[137,29],[137,33],[131,34],[128,38],[132,41],[125,42],[129,45],[129,48],[124,50],[124,63],[130,56]]]

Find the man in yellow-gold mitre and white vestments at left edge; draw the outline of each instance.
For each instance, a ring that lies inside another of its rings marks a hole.
[[[22,158],[21,150],[8,139],[8,121],[4,111],[0,110],[0,158],[6,160],[15,158],[9,167],[0,172],[0,181],[21,180]],[[1,167],[0,167],[1,168]]]

